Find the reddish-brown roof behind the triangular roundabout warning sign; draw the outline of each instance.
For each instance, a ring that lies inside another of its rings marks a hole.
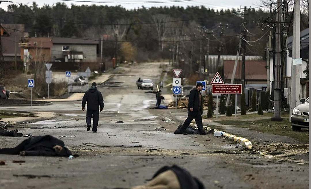
[[[231,79],[234,68],[234,60],[224,61],[225,79]],[[245,61],[245,79],[247,80],[267,80],[266,61]],[[234,79],[241,79],[242,61],[238,61]]]

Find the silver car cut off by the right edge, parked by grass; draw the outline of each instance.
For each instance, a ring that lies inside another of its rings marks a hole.
[[[301,99],[302,104],[294,108],[291,117],[292,130],[309,129],[309,98]]]

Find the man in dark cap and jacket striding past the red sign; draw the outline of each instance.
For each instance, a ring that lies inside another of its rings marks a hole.
[[[190,125],[194,119],[197,124],[198,134],[206,135],[207,132],[203,130],[202,114],[203,114],[203,98],[202,91],[203,84],[197,83],[197,86],[190,91],[189,103],[188,103],[188,118],[183,123],[181,131],[183,134],[187,134],[185,129]]]

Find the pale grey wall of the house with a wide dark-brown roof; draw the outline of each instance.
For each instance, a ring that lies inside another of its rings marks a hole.
[[[97,61],[97,45],[87,45],[87,44],[53,44],[51,50],[51,59],[52,61],[57,58],[64,58],[63,46],[69,46],[69,50],[74,51],[82,51],[83,53],[83,60],[82,62],[96,62]]]

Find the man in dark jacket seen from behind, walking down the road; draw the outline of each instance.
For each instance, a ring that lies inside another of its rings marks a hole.
[[[87,131],[90,131],[91,128],[91,118],[93,118],[93,128],[92,131],[95,133],[97,131],[99,112],[103,111],[104,108],[104,99],[101,92],[97,90],[97,84],[95,82],[92,83],[92,86],[89,90],[84,93],[82,98],[82,110],[84,111],[85,104],[87,102],[87,110],[86,110],[86,125]]]

